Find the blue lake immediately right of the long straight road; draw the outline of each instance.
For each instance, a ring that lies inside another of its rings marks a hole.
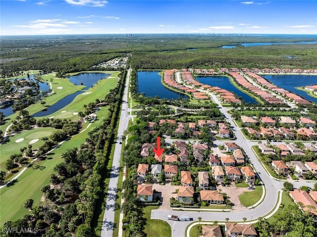
[[[138,71],[138,93],[166,99],[189,98],[187,95],[168,90],[161,83],[159,71]]]

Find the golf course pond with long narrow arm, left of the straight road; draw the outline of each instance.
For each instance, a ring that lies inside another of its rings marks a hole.
[[[93,87],[93,85],[96,84],[99,80],[104,79],[108,76],[110,76],[110,74],[106,74],[106,73],[80,73],[74,76],[70,76],[69,80],[73,84],[75,85],[83,84],[84,86],[86,86],[86,88],[83,89],[82,91],[78,91],[71,95],[65,96],[64,98],[54,103],[52,106],[47,107],[45,110],[42,110],[33,114],[32,117],[42,117],[42,116],[48,116],[50,114],[53,114],[59,109],[65,107],[67,104],[71,103],[77,95],[82,94],[83,91],[88,90],[89,88]]]

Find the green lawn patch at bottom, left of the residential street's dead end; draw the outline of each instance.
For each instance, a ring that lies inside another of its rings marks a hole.
[[[166,222],[151,219],[151,211],[158,208],[158,206],[146,206],[143,208],[143,217],[147,219],[144,232],[147,237],[171,237],[171,228]]]

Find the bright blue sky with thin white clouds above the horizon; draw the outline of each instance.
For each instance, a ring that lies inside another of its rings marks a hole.
[[[0,35],[317,34],[317,0],[1,0]]]

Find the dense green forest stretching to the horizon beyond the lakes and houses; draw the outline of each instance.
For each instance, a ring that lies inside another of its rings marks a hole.
[[[29,69],[70,73],[131,53],[137,69],[316,68],[317,44],[242,47],[241,43],[316,41],[314,37],[250,35],[91,35],[2,37],[2,76]],[[236,45],[235,48],[218,48]],[[96,70],[96,68],[95,68]]]

